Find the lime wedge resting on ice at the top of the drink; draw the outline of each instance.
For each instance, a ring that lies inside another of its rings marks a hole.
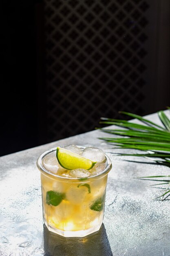
[[[96,162],[93,162],[91,159],[82,157],[81,155],[60,147],[57,147],[56,157],[59,164],[67,170],[79,168],[90,170],[96,164]]]

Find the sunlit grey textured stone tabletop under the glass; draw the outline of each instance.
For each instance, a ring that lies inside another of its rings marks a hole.
[[[159,123],[156,114],[147,118]],[[169,175],[169,168],[147,159],[115,156],[120,150],[97,139],[102,136],[95,130],[0,157],[0,256],[170,256],[170,202],[152,200],[161,193],[149,187],[153,181],[134,179]],[[64,144],[102,148],[113,162],[104,223],[97,234],[86,238],[60,237],[42,222],[36,159],[45,150]]]

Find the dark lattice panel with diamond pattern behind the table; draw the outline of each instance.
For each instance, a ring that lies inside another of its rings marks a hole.
[[[49,141],[141,108],[148,38],[145,0],[46,0]]]

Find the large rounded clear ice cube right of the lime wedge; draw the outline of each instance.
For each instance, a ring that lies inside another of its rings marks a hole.
[[[82,156],[98,163],[106,160],[104,152],[99,148],[87,147],[83,150]]]

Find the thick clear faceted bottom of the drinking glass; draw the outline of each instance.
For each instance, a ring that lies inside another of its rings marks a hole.
[[[52,227],[51,225],[48,225],[46,221],[44,221],[47,229],[49,229],[49,231],[60,235],[60,236],[64,236],[64,237],[84,237],[84,236],[88,236],[96,231],[99,231],[100,227],[102,226],[102,223],[100,223],[99,225],[92,227],[90,229],[85,229],[85,230],[78,230],[78,231],[64,231],[61,229],[56,229],[55,227]]]

